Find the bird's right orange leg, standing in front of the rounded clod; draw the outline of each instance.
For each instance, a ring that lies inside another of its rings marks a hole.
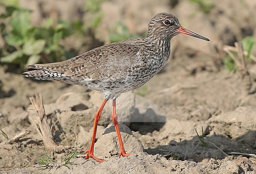
[[[115,105],[116,105],[116,99],[113,100],[111,118],[112,118],[114,126],[115,126],[115,131],[117,132],[117,139],[118,139],[118,143],[119,143],[119,147],[120,147],[120,156],[129,156],[130,154],[126,154],[126,152],[124,150],[124,145],[122,143],[122,137],[121,137],[118,122],[117,122],[117,113],[115,111],[115,109],[116,109]]]

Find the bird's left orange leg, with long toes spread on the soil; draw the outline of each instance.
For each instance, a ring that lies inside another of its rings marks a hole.
[[[100,120],[100,114],[104,108],[104,106],[106,105],[108,100],[103,100],[102,104],[100,105],[100,108],[98,109],[98,111],[95,114],[95,118],[94,118],[94,125],[93,125],[93,136],[91,138],[91,145],[90,145],[90,149],[86,150],[84,153],[88,153],[87,156],[85,157],[85,159],[87,158],[93,158],[96,161],[99,162],[103,162],[104,160],[98,159],[94,156],[93,151],[94,151],[94,143],[95,143],[95,138],[96,138],[96,132],[97,132],[97,126],[98,126],[98,121]]]

